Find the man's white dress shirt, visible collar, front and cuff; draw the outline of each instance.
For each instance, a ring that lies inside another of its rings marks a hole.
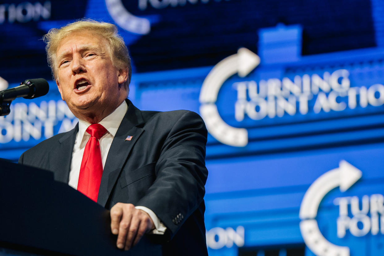
[[[118,131],[120,123],[124,118],[127,109],[128,105],[124,101],[118,108],[116,108],[116,110],[114,110],[111,114],[109,114],[99,122],[99,124],[103,125],[104,128],[107,129],[107,132],[99,140],[103,168],[108,156],[109,148],[112,144],[112,140],[116,135],[116,132]],[[79,181],[80,166],[81,160],[83,160],[84,148],[89,138],[91,137],[91,135],[86,132],[89,125],[91,124],[87,121],[79,120],[79,131],[76,135],[76,140],[73,146],[71,170],[68,185],[70,185],[76,190]],[[161,223],[159,218],[157,218],[156,214],[151,211],[151,209],[148,209],[144,206],[136,206],[135,208],[145,211],[151,217],[156,227],[156,229],[152,231],[153,234],[164,234],[167,228],[164,226],[163,223]]]

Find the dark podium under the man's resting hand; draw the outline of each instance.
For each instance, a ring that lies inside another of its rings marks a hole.
[[[50,171],[0,160],[0,207],[0,255],[161,255],[146,237],[118,249],[109,210]]]

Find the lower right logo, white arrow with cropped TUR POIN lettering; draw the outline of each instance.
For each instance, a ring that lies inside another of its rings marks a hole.
[[[300,231],[305,244],[317,256],[349,256],[347,246],[330,243],[319,230],[316,216],[321,200],[334,188],[341,192],[348,190],[362,176],[362,172],[341,160],[339,167],[327,171],[315,180],[306,191],[300,206]],[[352,236],[361,237],[384,234],[384,196],[382,194],[364,195],[361,205],[357,196],[335,198],[333,203],[339,206],[337,218],[337,237],[343,238],[349,229]],[[349,215],[349,207],[353,217]],[[368,216],[368,213],[370,216]]]

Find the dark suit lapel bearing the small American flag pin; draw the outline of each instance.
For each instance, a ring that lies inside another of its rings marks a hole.
[[[104,165],[103,176],[101,177],[97,201],[104,207],[122,168],[126,164],[132,147],[144,131],[144,129],[137,127],[144,122],[140,110],[138,110],[129,100],[127,100],[127,104],[127,113],[122,119],[118,131],[113,138],[111,147],[109,148],[107,160]],[[130,141],[126,140],[127,136],[132,136],[132,139]]]

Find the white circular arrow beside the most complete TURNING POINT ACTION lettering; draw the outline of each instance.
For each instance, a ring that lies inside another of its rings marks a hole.
[[[248,131],[225,123],[215,103],[218,91],[228,78],[236,73],[240,77],[247,76],[259,64],[260,57],[247,48],[240,48],[237,54],[217,63],[205,78],[199,97],[200,115],[204,119],[208,132],[216,140],[230,146],[243,147],[248,144]]]

